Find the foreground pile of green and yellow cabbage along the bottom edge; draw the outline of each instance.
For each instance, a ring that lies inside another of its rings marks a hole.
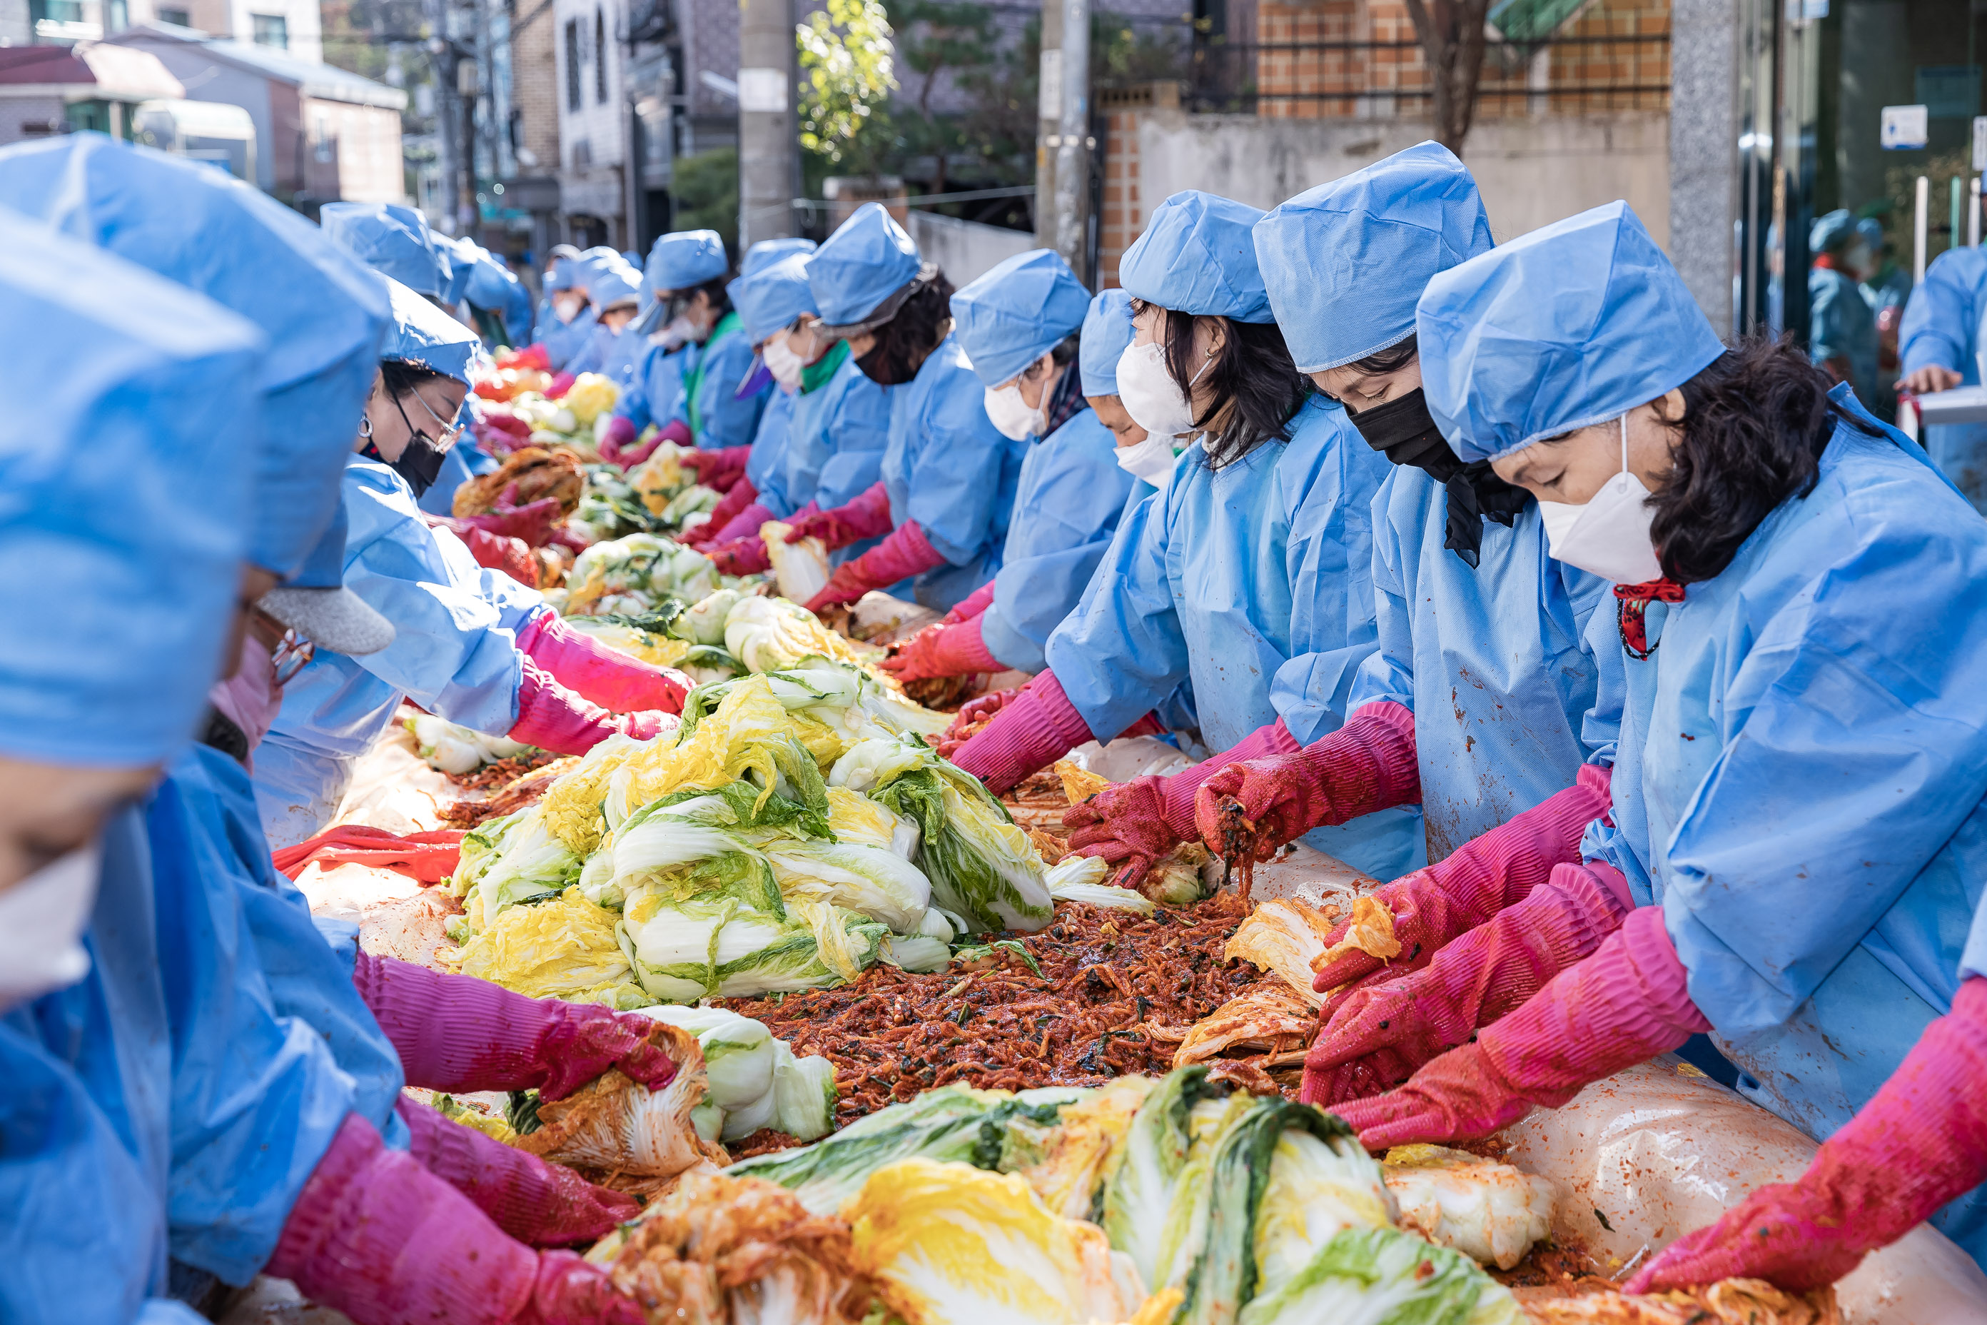
[[[1339,1118],[1202,1067],[1095,1091],[944,1087],[725,1176],[846,1220],[850,1267],[906,1325],[1524,1319],[1468,1255],[1401,1228]]]

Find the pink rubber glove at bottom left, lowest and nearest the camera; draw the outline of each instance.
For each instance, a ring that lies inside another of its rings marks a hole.
[[[533,1251],[348,1114],[264,1273],[358,1325],[646,1325],[572,1251]]]

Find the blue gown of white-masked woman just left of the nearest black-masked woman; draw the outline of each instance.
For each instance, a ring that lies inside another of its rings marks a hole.
[[[1377,640],[1371,507],[1387,469],[1321,395],[1288,443],[1222,469],[1188,447],[1049,636],[1049,667],[1089,729],[1117,735],[1190,677],[1210,751],[1278,717],[1303,745],[1337,731]],[[1303,836],[1377,878],[1417,868],[1421,838],[1405,807]]]

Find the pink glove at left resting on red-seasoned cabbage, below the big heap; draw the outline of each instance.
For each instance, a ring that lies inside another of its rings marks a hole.
[[[676,1059],[650,1043],[656,1023],[562,999],[531,999],[473,975],[358,956],[352,983],[393,1041],[409,1087],[531,1091],[556,1101],[616,1067],[660,1091]]]

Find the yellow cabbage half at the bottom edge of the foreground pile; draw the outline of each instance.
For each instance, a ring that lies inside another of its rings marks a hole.
[[[918,1325],[1123,1321],[1145,1301],[1103,1230],[1051,1214],[1017,1176],[898,1160],[846,1218],[856,1269]]]

